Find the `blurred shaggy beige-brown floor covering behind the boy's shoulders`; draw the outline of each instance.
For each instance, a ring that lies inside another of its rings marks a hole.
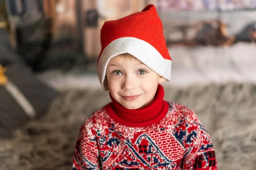
[[[256,85],[165,87],[165,99],[192,108],[209,131],[219,170],[256,169]],[[40,120],[0,139],[0,170],[70,170],[83,120],[110,102],[102,90],[66,90]]]

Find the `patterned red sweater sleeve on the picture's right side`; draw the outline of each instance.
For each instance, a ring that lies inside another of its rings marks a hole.
[[[217,170],[212,140],[193,111],[186,122],[186,127],[186,153],[183,159],[183,170]]]

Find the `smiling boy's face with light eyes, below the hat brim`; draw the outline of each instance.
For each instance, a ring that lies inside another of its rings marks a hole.
[[[127,109],[148,105],[155,96],[158,83],[166,79],[135,57],[113,57],[106,71],[111,96]]]

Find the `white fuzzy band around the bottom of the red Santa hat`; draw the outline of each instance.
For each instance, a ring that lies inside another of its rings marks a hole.
[[[172,61],[162,55],[148,42],[134,37],[122,37],[112,41],[99,57],[97,72],[102,88],[108,91],[105,81],[108,62],[119,54],[129,53],[151,68],[160,76],[171,79]]]

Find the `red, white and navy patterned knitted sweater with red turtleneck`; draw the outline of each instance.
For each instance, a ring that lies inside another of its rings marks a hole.
[[[217,170],[212,141],[195,113],[163,100],[128,110],[112,102],[81,126],[73,170]]]

